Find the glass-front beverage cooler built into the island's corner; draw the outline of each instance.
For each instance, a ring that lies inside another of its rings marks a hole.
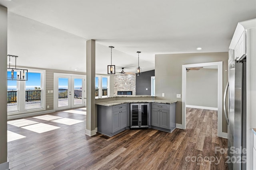
[[[131,104],[130,116],[130,128],[148,127],[148,114],[149,105],[148,103],[142,104]]]

